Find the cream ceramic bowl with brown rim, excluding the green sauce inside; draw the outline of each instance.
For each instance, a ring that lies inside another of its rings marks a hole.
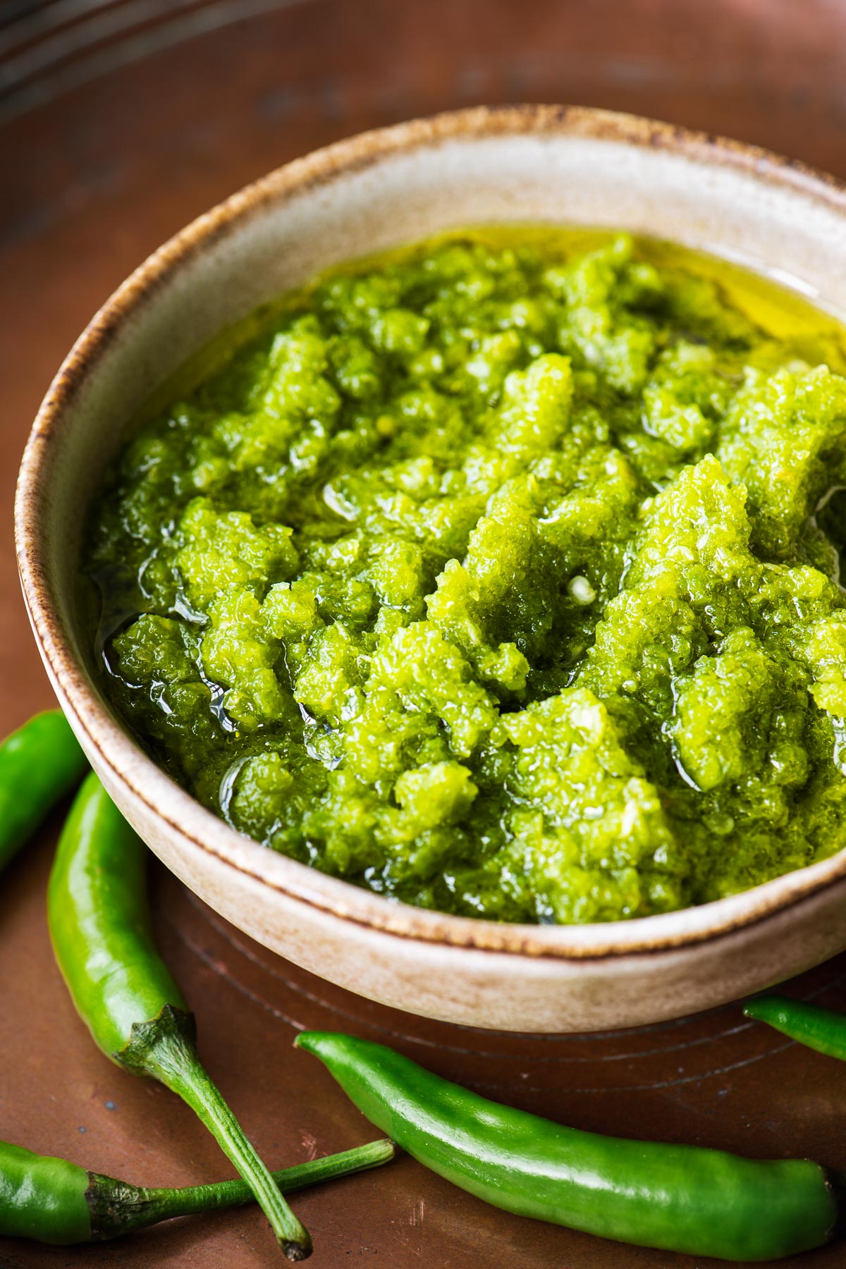
[[[80,527],[124,424],[219,329],[334,263],[493,222],[625,227],[785,279],[846,312],[846,189],[784,159],[567,107],[472,109],[292,162],[194,221],[107,302],[33,426],[15,508],[24,598],[62,708],[152,850],[275,952],[373,1000],[519,1032],[630,1027],[719,1005],[846,948],[846,851],[701,907],[500,925],[391,902],[227,827],[132,741],[93,676]]]

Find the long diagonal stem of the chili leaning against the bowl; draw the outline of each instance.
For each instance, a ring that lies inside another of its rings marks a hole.
[[[197,1049],[174,1030],[162,1030],[145,1055],[145,1070],[176,1093],[205,1124],[223,1154],[244,1176],[270,1221],[289,1260],[311,1255],[311,1237],[285,1203],[265,1164],[259,1159],[219,1089],[203,1067]]]

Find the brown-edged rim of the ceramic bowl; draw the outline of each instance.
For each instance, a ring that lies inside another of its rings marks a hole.
[[[330,184],[391,155],[438,146],[458,137],[521,133],[564,133],[667,150],[694,161],[742,170],[757,180],[800,190],[846,214],[846,184],[802,162],[743,142],[586,107],[476,107],[364,132],[317,150],[263,176],[193,221],[145,260],[89,322],[53,379],[27,442],[15,496],[18,570],[42,652],[103,763],[155,815],[200,850],[290,898],[402,938],[557,959],[652,954],[726,937],[809,898],[832,882],[846,878],[846,851],[699,907],[581,926],[506,925],[449,916],[360,890],[268,851],[230,829],[143,755],[89,689],[71,652],[66,631],[53,608],[39,536],[42,509],[48,500],[52,442],[62,425],[63,411],[79,395],[85,378],[96,371],[126,317],[148,302],[156,289],[195,253],[247,222],[268,203],[284,203],[308,188]],[[136,778],[138,769],[142,779]],[[160,808],[151,791],[166,798],[169,812]],[[268,872],[274,876],[268,877]]]

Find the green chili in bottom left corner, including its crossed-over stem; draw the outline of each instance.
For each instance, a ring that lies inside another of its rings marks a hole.
[[[341,1155],[271,1173],[283,1193],[378,1167],[393,1159],[389,1141],[372,1141]],[[181,1189],[147,1189],[86,1173],[65,1159],[34,1155],[0,1142],[0,1235],[66,1246],[117,1239],[175,1216],[217,1212],[252,1202],[242,1180]]]

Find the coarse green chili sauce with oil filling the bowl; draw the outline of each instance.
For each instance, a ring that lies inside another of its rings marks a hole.
[[[335,270],[107,473],[105,690],[236,829],[440,911],[615,920],[824,858],[842,369],[795,296],[627,235]]]

